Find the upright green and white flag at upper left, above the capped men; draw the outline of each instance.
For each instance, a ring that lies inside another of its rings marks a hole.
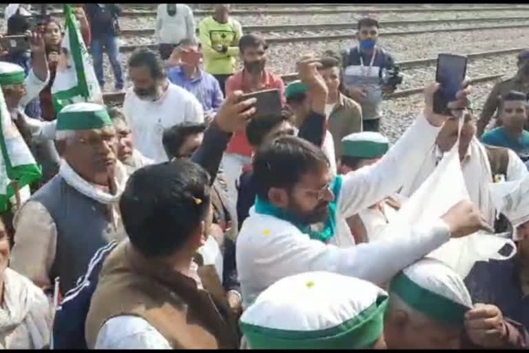
[[[103,94],[96,79],[90,54],[79,30],[79,23],[70,5],[64,6],[65,31],[59,53],[59,63],[52,85],[56,112],[72,103],[103,104]]]

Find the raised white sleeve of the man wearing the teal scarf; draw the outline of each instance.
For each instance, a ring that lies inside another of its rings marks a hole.
[[[344,217],[385,199],[415,178],[439,130],[421,114],[380,161],[344,175],[338,195],[338,209]]]

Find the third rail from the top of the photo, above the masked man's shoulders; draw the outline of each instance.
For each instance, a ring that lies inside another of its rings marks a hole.
[[[512,28],[529,28],[528,24],[520,25],[506,25],[506,26],[480,26],[480,27],[468,27],[468,28],[444,28],[439,30],[411,30],[411,31],[395,31],[395,32],[382,32],[380,37],[395,37],[395,36],[404,36],[404,35],[415,35],[415,34],[424,34],[424,33],[449,33],[449,32],[470,32],[475,30],[506,30]],[[345,34],[334,34],[326,36],[300,36],[300,37],[272,37],[266,38],[267,43],[297,43],[297,42],[313,42],[313,41],[336,41],[341,39],[351,39],[352,33]],[[132,52],[136,48],[149,48],[156,50],[158,48],[158,43],[149,43],[141,45],[125,45],[119,48],[120,52]]]

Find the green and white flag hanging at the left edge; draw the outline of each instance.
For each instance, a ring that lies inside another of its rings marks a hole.
[[[0,212],[3,212],[9,209],[9,199],[15,194],[13,182],[21,189],[41,179],[42,173],[11,119],[2,90],[0,119]]]

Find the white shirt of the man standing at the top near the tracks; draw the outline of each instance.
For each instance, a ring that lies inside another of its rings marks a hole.
[[[193,11],[183,3],[176,4],[176,14],[167,14],[167,3],[160,3],[156,10],[156,37],[160,43],[178,44],[183,39],[195,38]]]

